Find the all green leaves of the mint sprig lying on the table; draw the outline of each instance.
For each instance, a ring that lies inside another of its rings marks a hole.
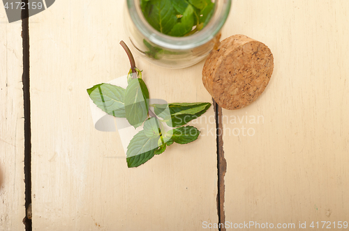
[[[195,141],[200,131],[193,126],[183,126],[209,109],[210,103],[173,103],[149,105],[149,91],[142,73],[128,73],[126,89],[110,83],[101,83],[87,89],[89,97],[98,108],[111,116],[126,118],[135,128],[144,124],[127,147],[128,168],[144,164],[155,154],[163,153],[172,143],[186,144]],[[154,113],[149,113],[154,107]],[[149,114],[152,115],[149,117]],[[174,127],[165,131],[163,123]],[[182,127],[181,127],[182,126]]]

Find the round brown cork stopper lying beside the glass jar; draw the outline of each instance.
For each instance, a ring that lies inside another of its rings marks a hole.
[[[233,35],[211,51],[202,70],[202,81],[224,109],[242,109],[265,90],[272,76],[272,51],[245,35]]]

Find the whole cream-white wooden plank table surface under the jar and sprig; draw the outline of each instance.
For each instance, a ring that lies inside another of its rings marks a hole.
[[[349,1],[233,1],[222,38],[244,34],[272,50],[265,93],[221,110],[218,146],[203,132],[131,169],[117,158],[119,134],[94,129],[86,93],[128,72],[123,4],[60,0],[29,18],[33,230],[202,230],[205,221],[313,230],[312,221],[349,221]],[[24,230],[22,28],[6,20],[1,6],[0,230]],[[135,59],[152,98],[211,102],[203,62],[168,71]]]

